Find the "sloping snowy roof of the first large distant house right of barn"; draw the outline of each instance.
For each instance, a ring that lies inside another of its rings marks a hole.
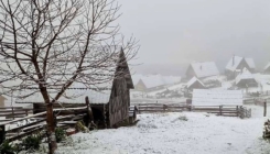
[[[192,63],[191,67],[198,78],[219,75],[214,62]]]

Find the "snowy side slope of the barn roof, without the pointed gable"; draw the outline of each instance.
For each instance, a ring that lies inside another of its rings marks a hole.
[[[53,76],[56,81],[63,76]],[[90,103],[108,103],[110,91],[114,84],[114,77],[100,76],[100,82],[96,81],[94,85],[79,82],[75,80],[73,85],[67,88],[64,95],[58,99],[62,103],[85,103],[85,97],[88,96]],[[48,96],[54,99],[60,92],[61,87],[47,87]],[[21,89],[19,92],[13,94],[15,103],[39,103],[44,102],[43,97],[36,86]]]

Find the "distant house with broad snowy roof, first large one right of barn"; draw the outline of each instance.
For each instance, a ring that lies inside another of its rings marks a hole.
[[[192,63],[187,67],[186,78],[191,79],[193,77],[196,78],[206,78],[210,76],[218,76],[219,72],[214,62],[204,62],[204,63]]]

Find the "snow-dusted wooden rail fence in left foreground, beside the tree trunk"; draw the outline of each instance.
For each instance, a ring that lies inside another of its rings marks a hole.
[[[61,127],[61,128],[68,128],[71,125],[74,127],[77,123],[77,121],[85,120],[84,118],[87,116],[88,108],[89,108],[89,106],[86,105],[85,107],[79,107],[79,108],[54,109],[55,127]],[[17,111],[17,109],[14,111]],[[25,111],[28,111],[28,113],[29,113],[30,109],[28,109]],[[69,114],[64,114],[64,116],[58,114],[60,112],[66,113],[67,111],[69,112]],[[76,114],[71,113],[71,112],[76,112]],[[10,114],[8,114],[8,116],[10,116]],[[10,120],[10,119],[9,120],[2,120],[0,122],[0,144],[6,139],[8,139],[11,142],[11,141],[22,139],[26,135],[34,133],[34,132],[45,130],[45,128],[46,128],[46,111],[39,112],[35,114],[26,114],[26,116],[20,114],[20,116],[24,116],[24,117],[19,118],[19,119],[14,119],[14,120]],[[15,118],[18,118],[18,117],[15,117]],[[23,125],[18,125],[18,123],[21,121],[26,121],[26,123]],[[9,125],[12,127],[12,129],[8,129]]]

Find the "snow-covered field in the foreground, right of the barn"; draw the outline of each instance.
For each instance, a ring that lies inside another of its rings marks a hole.
[[[249,107],[250,108],[250,107]],[[207,113],[140,114],[134,127],[78,133],[57,154],[269,154],[262,140],[266,118],[252,106],[251,119]]]

